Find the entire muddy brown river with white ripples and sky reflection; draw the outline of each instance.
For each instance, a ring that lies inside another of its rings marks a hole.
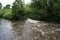
[[[0,19],[0,40],[60,40],[60,24]]]

